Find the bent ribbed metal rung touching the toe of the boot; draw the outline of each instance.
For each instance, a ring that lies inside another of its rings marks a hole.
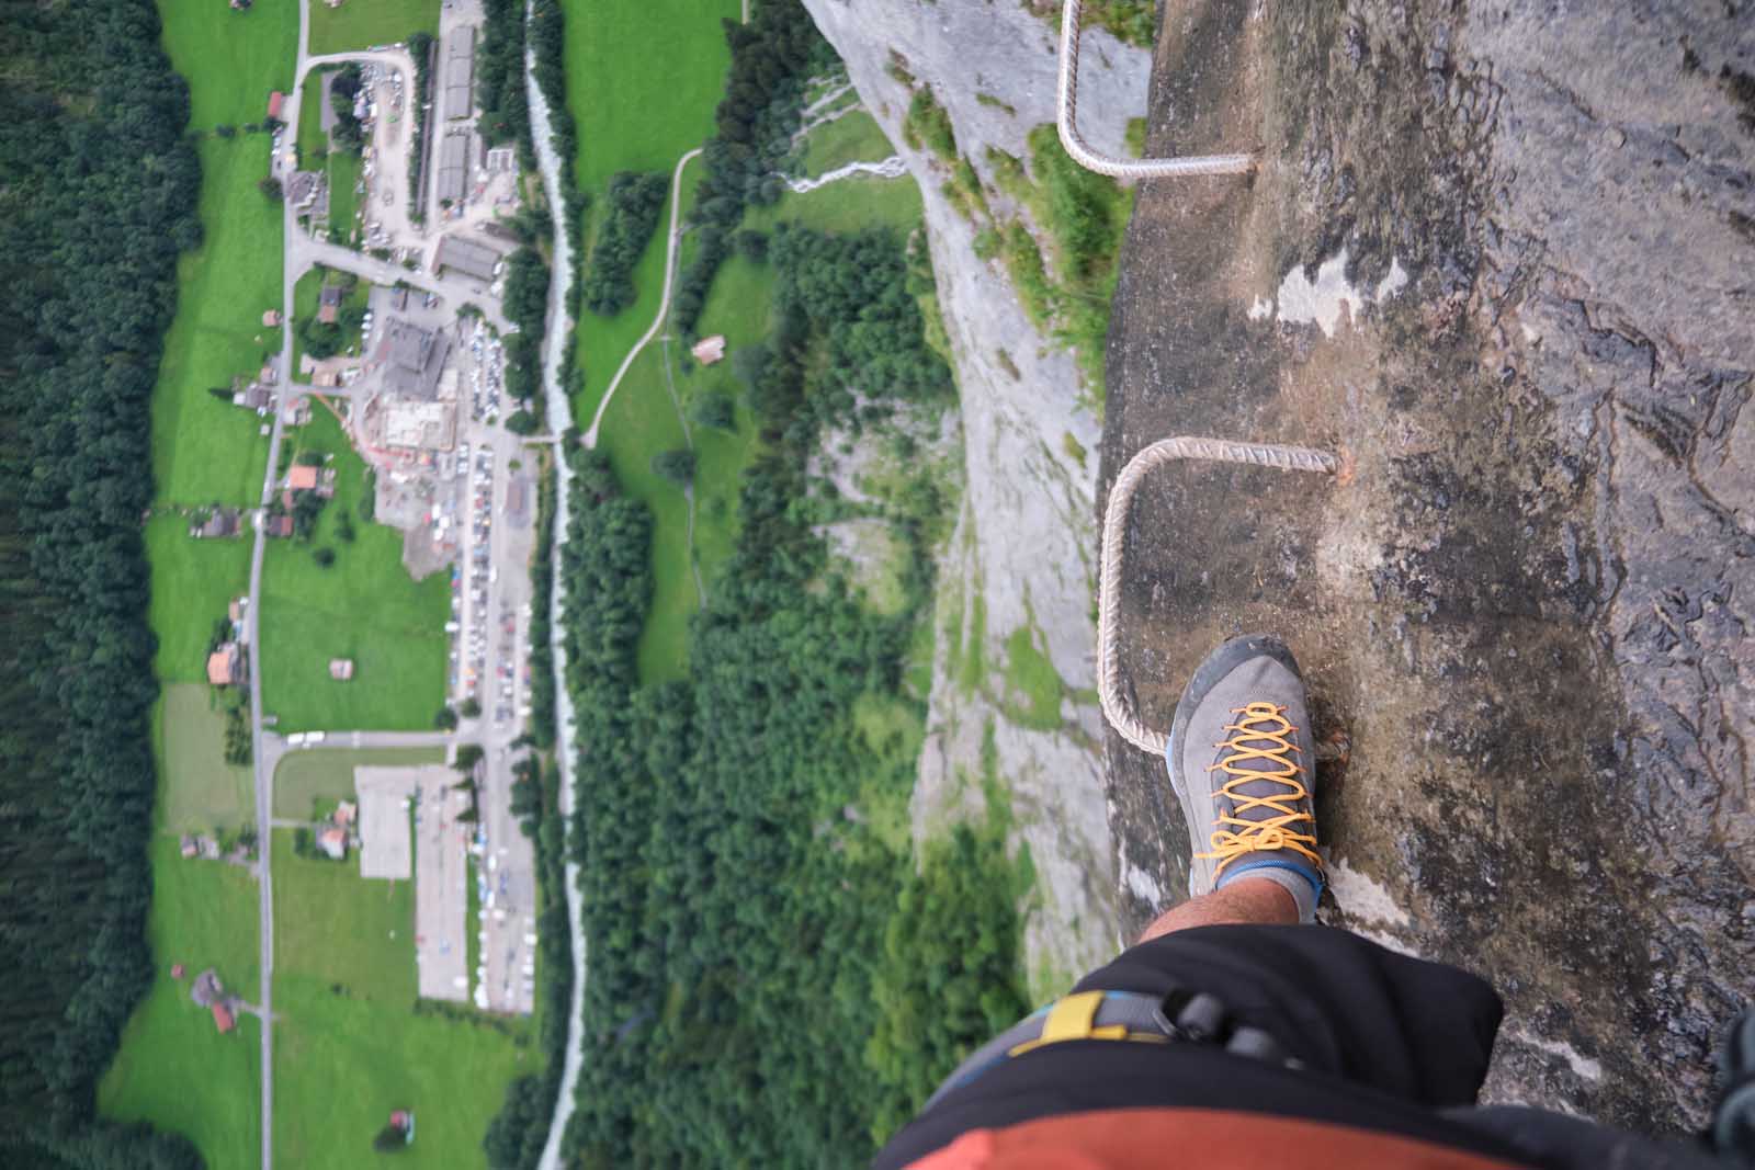
[[[1076,7],[1078,0],[1074,0]],[[1109,488],[1109,507],[1102,517],[1102,577],[1097,588],[1097,693],[1102,698],[1102,712],[1134,747],[1162,756],[1169,742],[1164,731],[1148,728],[1128,703],[1123,693],[1121,660],[1116,656],[1116,644],[1121,640],[1121,553],[1127,544],[1127,512],[1134,503],[1134,491],[1146,472],[1174,460],[1211,460],[1216,463],[1248,463],[1251,467],[1278,467],[1285,472],[1322,472],[1334,475],[1339,468],[1327,451],[1311,447],[1285,447],[1267,442],[1230,442],[1227,439],[1195,439],[1179,435],[1160,439],[1144,447],[1127,461],[1121,474]],[[1327,749],[1327,751],[1325,751]],[[1344,753],[1344,744],[1325,744],[1316,756],[1334,756]]]

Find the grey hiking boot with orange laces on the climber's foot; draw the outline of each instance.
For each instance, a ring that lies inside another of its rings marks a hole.
[[[1164,754],[1193,842],[1188,893],[1265,877],[1299,903],[1299,921],[1313,921],[1322,895],[1316,744],[1286,644],[1257,633],[1207,654],[1176,705]]]

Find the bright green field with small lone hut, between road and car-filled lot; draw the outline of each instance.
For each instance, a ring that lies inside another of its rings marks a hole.
[[[402,533],[362,517],[365,461],[321,405],[288,433],[288,449],[330,453],[335,498],[309,540],[274,540],[263,565],[261,702],[277,731],[432,728],[444,705],[451,612],[444,574],[412,581],[402,567]],[[342,519],[346,516],[346,521]],[[351,526],[355,539],[342,537]],[[335,563],[314,553],[332,549]],[[351,658],[355,677],[328,675],[332,658]]]

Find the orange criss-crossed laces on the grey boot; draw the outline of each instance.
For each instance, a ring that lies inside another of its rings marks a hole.
[[[1230,816],[1218,819],[1220,828],[1213,830],[1213,853],[1195,856],[1218,860],[1214,877],[1244,854],[1274,849],[1290,849],[1304,854],[1311,865],[1322,870],[1322,858],[1316,854],[1316,817],[1299,809],[1299,802],[1309,796],[1309,789],[1299,779],[1302,768],[1293,756],[1300,753],[1299,746],[1292,742],[1297,728],[1286,721],[1286,709],[1274,703],[1250,703],[1248,707],[1232,707],[1230,712],[1239,716],[1239,719],[1237,723],[1227,723],[1225,730],[1236,731],[1236,735],[1213,744],[1213,747],[1228,747],[1230,754],[1209,767],[1207,772],[1225,770],[1228,779],[1213,796],[1214,800],[1228,796],[1236,802],[1236,807]],[[1267,740],[1269,746],[1253,746],[1262,740]],[[1237,767],[1251,760],[1279,767],[1269,772],[1251,772],[1250,768]],[[1253,781],[1272,781],[1285,786],[1286,791],[1269,796],[1244,795],[1241,788]],[[1251,809],[1267,809],[1274,816],[1262,817],[1260,821],[1246,821],[1237,816]],[[1300,823],[1307,824],[1311,831],[1297,831],[1293,826]]]

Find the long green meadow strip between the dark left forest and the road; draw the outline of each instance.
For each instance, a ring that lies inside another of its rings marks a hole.
[[[291,88],[298,4],[256,0],[246,12],[167,4],[160,18],[200,135],[204,242],[177,267],[177,314],[153,395],[153,477],[160,503],[242,505],[256,498],[267,465],[261,419],[207,389],[253,375],[279,349],[261,312],[281,307],[281,207],[256,189],[269,172],[269,137],[211,130],[261,121],[269,93]],[[214,621],[247,586],[249,544],[190,540],[188,519],[176,514],[153,517],[146,542],[156,674],[170,684],[153,719],[147,938],[156,979],[98,1084],[98,1110],[186,1135],[209,1166],[247,1166],[261,1145],[258,1024],[244,1014],[219,1035],[190,1000],[190,979],[212,967],[228,988],[256,998],[256,882],[240,867],[183,860],[177,837],[253,812],[247,772],[219,754],[223,723],[209,707],[202,660]],[[184,979],[170,977],[172,963],[186,967]]]

